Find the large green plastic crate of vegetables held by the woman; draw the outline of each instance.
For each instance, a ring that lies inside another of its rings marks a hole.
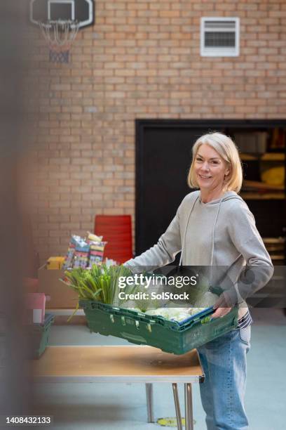
[[[91,332],[127,339],[132,344],[155,346],[162,351],[184,354],[222,336],[238,325],[238,308],[223,318],[207,318],[214,311],[207,308],[183,323],[161,316],[145,315],[115,308],[98,301],[80,300]]]

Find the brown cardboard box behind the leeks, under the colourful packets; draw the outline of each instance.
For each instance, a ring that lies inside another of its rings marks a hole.
[[[38,276],[38,292],[44,292],[46,296],[50,296],[50,301],[46,301],[46,309],[76,308],[79,296],[60,281],[60,278],[64,276],[63,270],[50,271],[45,264],[39,268]]]

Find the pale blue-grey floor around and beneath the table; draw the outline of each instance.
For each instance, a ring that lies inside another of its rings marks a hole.
[[[254,309],[252,318],[245,402],[250,430],[285,430],[286,317],[280,309]],[[50,345],[125,344],[128,342],[122,339],[90,334],[85,325],[54,325],[50,336]],[[53,415],[55,430],[160,428],[147,424],[144,384],[41,384],[36,386],[36,396],[41,399],[42,412]],[[183,408],[182,386],[179,397]],[[171,385],[154,384],[154,400],[156,419],[175,417]],[[195,430],[206,429],[196,384],[193,418]]]

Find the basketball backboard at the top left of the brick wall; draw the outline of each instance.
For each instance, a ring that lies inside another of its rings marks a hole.
[[[93,25],[93,0],[31,0],[30,20],[38,25],[48,21],[76,21],[79,27]]]

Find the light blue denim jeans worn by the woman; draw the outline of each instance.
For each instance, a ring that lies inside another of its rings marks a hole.
[[[205,382],[200,398],[207,430],[247,430],[244,397],[251,328],[231,330],[198,348]]]

